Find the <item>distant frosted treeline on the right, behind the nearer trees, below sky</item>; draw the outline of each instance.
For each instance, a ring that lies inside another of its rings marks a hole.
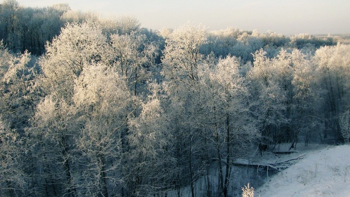
[[[284,36],[274,32],[259,33],[258,31],[241,31],[229,27],[226,30],[210,32],[208,43],[205,44],[203,54],[214,52],[217,56],[227,55],[240,57],[242,63],[252,62],[253,54],[263,49],[268,57],[275,57],[281,50],[298,49],[305,54],[314,54],[315,50],[323,46],[336,45],[336,37],[313,36],[299,34]]]

